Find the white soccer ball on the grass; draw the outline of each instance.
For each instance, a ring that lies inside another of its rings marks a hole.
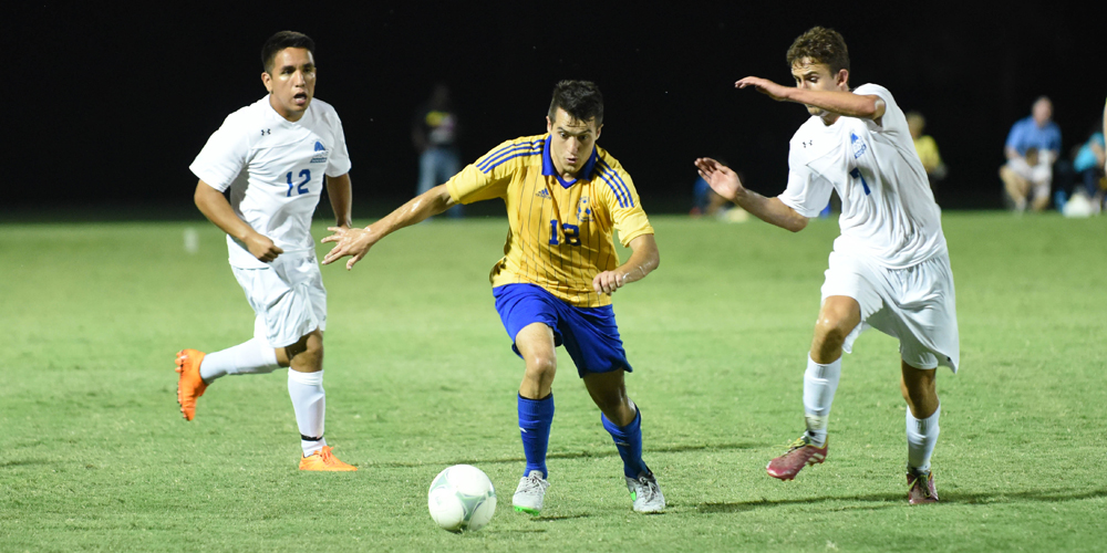
[[[426,507],[443,530],[472,532],[480,530],[496,513],[496,490],[480,469],[454,465],[431,481]]]

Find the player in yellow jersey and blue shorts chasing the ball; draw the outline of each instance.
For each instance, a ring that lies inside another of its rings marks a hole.
[[[603,96],[596,84],[561,81],[545,135],[508,140],[365,229],[334,227],[323,264],[351,255],[352,269],[385,236],[456,204],[500,198],[510,225],[505,255],[492,270],[496,311],[526,362],[519,430],[527,466],[513,503],[538,514],[549,487],[546,450],[554,420],[555,348],[565,345],[623,460],[634,510],[660,512],[665,498],[642,460],[642,417],[627,396],[631,371],[611,294],[658,268],[653,228],[630,175],[596,146]],[[619,263],[613,232],[633,253]]]

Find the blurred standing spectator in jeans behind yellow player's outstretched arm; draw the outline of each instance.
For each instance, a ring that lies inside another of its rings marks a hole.
[[[412,143],[420,153],[417,194],[449,180],[462,170],[457,131],[457,114],[449,98],[449,87],[438,83],[426,104],[415,112],[415,121],[412,122]],[[462,217],[462,206],[451,208],[446,215]]]

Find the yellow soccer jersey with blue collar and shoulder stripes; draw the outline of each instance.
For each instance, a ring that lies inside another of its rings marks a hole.
[[[623,246],[653,227],[630,175],[594,147],[579,178],[557,174],[549,134],[508,140],[446,182],[458,204],[501,198],[510,229],[492,285],[537,284],[577,307],[611,303],[592,279],[619,267],[612,231]]]

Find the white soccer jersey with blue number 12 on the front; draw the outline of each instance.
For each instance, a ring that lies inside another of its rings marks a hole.
[[[330,104],[312,100],[293,123],[266,96],[228,115],[188,168],[216,190],[230,188],[235,212],[286,253],[313,252],[311,215],[323,175],[349,173],[350,154]],[[230,236],[227,249],[234,267],[267,267]]]

